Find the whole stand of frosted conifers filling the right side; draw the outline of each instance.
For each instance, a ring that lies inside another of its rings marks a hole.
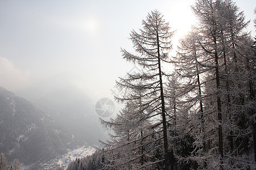
[[[174,57],[174,32],[159,11],[131,32],[135,52],[122,55],[141,71],[117,82],[123,109],[101,120],[114,132],[111,140],[69,169],[255,168],[256,44],[244,32],[249,22],[231,0],[196,0],[192,10],[198,23]]]

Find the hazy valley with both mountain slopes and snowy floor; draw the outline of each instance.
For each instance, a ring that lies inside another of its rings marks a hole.
[[[71,79],[59,74],[40,82],[24,93],[31,102],[0,87],[0,150],[9,163],[19,159],[28,169],[67,166],[106,138],[94,105]]]

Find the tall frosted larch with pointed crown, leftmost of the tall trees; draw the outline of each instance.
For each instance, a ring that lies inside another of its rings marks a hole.
[[[155,129],[163,132],[163,154],[165,169],[169,167],[168,139],[166,126],[166,108],[164,95],[164,72],[162,63],[168,60],[168,52],[171,49],[171,37],[169,23],[165,22],[159,11],[152,11],[147,19],[142,21],[143,29],[140,33],[132,31],[130,39],[134,44],[136,54],[122,49],[123,58],[137,63],[142,67],[142,74],[129,75],[128,79],[121,79],[118,86],[121,88],[144,88],[147,94],[143,96],[146,105],[154,106],[148,113],[148,118],[156,121]],[[143,84],[137,84],[137,80]]]

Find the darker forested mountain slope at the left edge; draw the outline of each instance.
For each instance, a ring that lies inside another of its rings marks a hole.
[[[76,145],[73,138],[51,116],[0,87],[0,152],[9,162],[46,162]]]

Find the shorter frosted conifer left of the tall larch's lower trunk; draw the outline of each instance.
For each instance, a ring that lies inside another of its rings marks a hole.
[[[124,96],[126,100],[118,99],[125,104],[122,111],[109,121],[101,120],[105,128],[114,132],[110,134],[111,141],[102,142],[103,152],[110,161],[105,165],[106,169],[153,168],[156,148],[152,147],[155,145],[152,134],[156,132],[147,119],[151,107],[143,104],[144,95],[146,90],[143,88],[131,89]]]

